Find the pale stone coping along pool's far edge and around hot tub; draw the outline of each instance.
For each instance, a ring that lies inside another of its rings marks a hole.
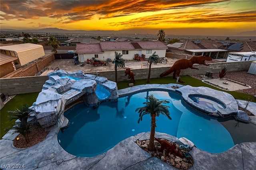
[[[172,88],[172,86],[178,86],[179,88]],[[182,86],[180,84],[144,84],[138,86],[132,86],[129,88],[118,90],[119,96],[126,96],[129,94],[135,94],[145,90],[168,90],[176,92],[182,96],[183,101],[193,109],[196,109],[200,113],[210,115],[212,117],[228,117],[236,114],[238,111],[238,104],[235,98],[226,92],[214,90],[208,87],[192,87],[189,85]],[[221,102],[226,108],[219,109],[218,111],[212,111],[208,107],[201,106],[189,98],[190,95],[200,95],[208,98],[213,98],[218,102]]]

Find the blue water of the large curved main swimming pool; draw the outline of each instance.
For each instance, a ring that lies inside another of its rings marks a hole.
[[[58,133],[64,150],[76,156],[92,157],[111,149],[120,141],[141,132],[150,131],[150,115],[138,123],[137,107],[144,106],[146,96],[170,101],[170,116],[157,117],[156,131],[178,138],[186,137],[199,149],[220,153],[234,146],[230,133],[216,118],[191,110],[174,92],[150,91],[119,98],[116,103],[105,102],[97,109],[78,104],[64,113],[70,121],[65,131]]]

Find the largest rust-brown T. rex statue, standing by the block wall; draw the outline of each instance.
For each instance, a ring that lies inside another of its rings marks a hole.
[[[160,74],[160,77],[167,76],[168,74],[171,74],[173,72],[173,79],[177,79],[177,77],[180,76],[180,70],[191,68],[191,69],[197,69],[196,67],[193,67],[193,64],[204,64],[208,66],[209,64],[206,63],[206,61],[212,61],[212,57],[206,57],[206,56],[193,56],[191,59],[179,59],[177,60],[171,68],[169,68],[167,71]],[[184,83],[182,80],[178,80],[180,83]]]

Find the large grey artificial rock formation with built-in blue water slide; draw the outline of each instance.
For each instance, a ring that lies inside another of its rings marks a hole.
[[[44,128],[63,127],[62,123],[67,122],[63,115],[65,105],[78,98],[82,98],[87,106],[96,108],[100,102],[116,102],[119,97],[115,82],[84,74],[82,70],[72,73],[57,70],[49,73],[48,77],[32,106],[36,119]]]

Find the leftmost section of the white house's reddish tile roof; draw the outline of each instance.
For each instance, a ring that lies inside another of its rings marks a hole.
[[[99,43],[95,44],[76,44],[76,53],[103,53]]]

